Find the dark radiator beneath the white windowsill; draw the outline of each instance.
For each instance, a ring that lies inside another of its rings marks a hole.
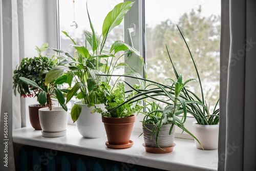
[[[160,170],[140,165],[100,159],[90,156],[56,151],[25,145],[20,148],[21,171],[155,171]]]

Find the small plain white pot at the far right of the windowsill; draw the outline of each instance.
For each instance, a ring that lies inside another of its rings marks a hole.
[[[200,125],[197,121],[193,122],[194,136],[200,141],[206,150],[218,149],[219,124],[217,125]],[[198,149],[202,149],[200,144],[195,140]]]

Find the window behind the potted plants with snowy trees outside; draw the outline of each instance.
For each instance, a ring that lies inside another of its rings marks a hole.
[[[120,2],[122,1],[88,2],[89,14],[96,33],[101,33],[104,17]],[[75,5],[74,11],[73,5]],[[124,39],[127,44],[131,44],[127,29],[134,28],[135,32],[131,34],[131,40],[134,48],[140,51],[145,60],[148,79],[168,84],[171,82],[166,78],[175,78],[165,46],[172,56],[176,69],[183,74],[183,80],[198,79],[185,42],[176,26],[178,25],[195,58],[206,103],[211,111],[219,97],[220,7],[220,1],[214,0],[162,0],[157,4],[152,0],[137,0],[126,14],[123,24],[111,32],[108,40],[111,42],[110,45],[117,39]],[[70,27],[74,21],[78,24],[77,29]],[[76,0],[73,4],[71,0],[59,1],[59,23],[60,31],[66,31],[78,42],[78,45],[84,45],[83,32],[91,31],[86,2]],[[70,44],[72,41],[60,32],[60,49],[73,54],[74,48],[69,46]],[[134,54],[126,62],[142,75],[142,63]],[[124,73],[125,69],[117,72]],[[129,81],[131,84],[136,83],[133,79]],[[191,91],[201,95],[198,80],[189,82],[188,86]],[[69,109],[72,106],[73,104],[69,104]],[[135,128],[141,128],[139,120],[142,117],[138,117]]]

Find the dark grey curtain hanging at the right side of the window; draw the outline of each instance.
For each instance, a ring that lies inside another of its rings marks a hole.
[[[256,1],[222,1],[218,170],[256,170]]]

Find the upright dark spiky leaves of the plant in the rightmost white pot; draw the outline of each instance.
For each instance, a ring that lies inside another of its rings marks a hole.
[[[189,92],[187,91],[185,88],[182,90],[182,94],[183,94],[183,97],[185,100],[198,100],[199,102],[203,103],[206,105],[206,101],[204,99],[204,92],[203,92],[203,88],[202,88],[202,82],[201,82],[201,79],[200,79],[200,75],[199,75],[199,72],[198,72],[198,69],[197,69],[197,66],[196,66],[196,62],[195,62],[195,59],[193,57],[193,55],[191,54],[191,51],[188,47],[188,44],[184,38],[184,35],[182,34],[179,26],[177,25],[178,27],[178,30],[186,44],[186,47],[188,49],[188,52],[189,52],[189,55],[193,61],[193,64],[194,64],[194,67],[195,67],[195,70],[197,72],[197,76],[198,76],[198,80],[199,80],[199,85],[200,85],[200,89],[201,89],[201,96],[202,96],[202,99],[197,96],[196,94],[194,94],[193,92]],[[176,70],[175,68],[175,65],[174,65],[174,62],[169,54],[169,51],[168,51],[168,48],[166,46],[166,49],[167,49],[167,53],[168,53],[168,56],[169,56],[169,59],[170,59],[170,62],[172,63],[172,66],[173,66],[173,70],[174,70],[174,73],[176,75],[176,77],[178,78],[179,77],[179,73],[178,71]],[[219,116],[220,116],[220,109],[217,108],[218,106],[218,103],[219,103],[219,100],[217,101],[217,103],[215,104],[215,108],[214,108],[214,111],[212,112],[212,114],[209,113],[209,110],[205,110],[205,108],[202,108],[200,105],[198,105],[197,103],[190,103],[188,104],[187,106],[187,112],[191,115],[193,115],[193,117],[197,120],[197,123],[198,124],[202,124],[202,125],[214,125],[214,124],[218,124],[219,123]]]

